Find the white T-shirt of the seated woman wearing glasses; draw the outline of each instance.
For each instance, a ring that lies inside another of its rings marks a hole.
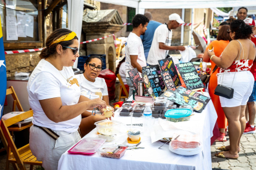
[[[97,99],[101,95],[101,99],[104,95],[108,95],[108,87],[104,78],[96,78],[95,82],[88,81],[83,74],[75,75],[75,78],[79,81],[81,95],[88,99]]]

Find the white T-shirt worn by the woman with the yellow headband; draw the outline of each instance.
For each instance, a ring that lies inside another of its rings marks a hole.
[[[55,97],[61,97],[62,105],[75,105],[79,102],[80,87],[71,67],[63,67],[58,71],[45,59],[40,60],[28,79],[27,91],[29,104],[34,113],[33,124],[55,131],[69,133],[77,131],[81,123],[81,115],[68,121],[55,123],[45,115],[39,102],[39,100]]]

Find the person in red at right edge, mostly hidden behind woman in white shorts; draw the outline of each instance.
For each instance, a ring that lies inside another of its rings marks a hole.
[[[252,18],[246,18],[244,22],[252,27],[252,32],[255,31],[255,22]],[[254,33],[252,34],[252,36],[254,36],[254,38],[251,38],[251,40],[252,42],[254,42],[256,46],[256,36]],[[250,72],[252,73],[252,75],[254,75],[254,89],[252,90],[252,94],[250,95],[249,100],[247,102],[248,111],[245,111],[245,115],[249,114],[249,121],[246,123],[244,134],[253,134],[256,132],[254,126],[254,119],[256,113],[254,103],[256,102],[256,62],[253,63],[252,68],[250,68]],[[248,116],[245,117],[248,118]]]

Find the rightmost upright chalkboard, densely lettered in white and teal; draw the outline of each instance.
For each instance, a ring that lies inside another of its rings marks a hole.
[[[177,70],[179,70],[187,89],[193,90],[205,87],[198,76],[197,70],[195,70],[193,63],[179,63],[176,64],[176,67]]]

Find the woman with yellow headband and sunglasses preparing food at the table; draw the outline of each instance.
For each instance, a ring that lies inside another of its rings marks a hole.
[[[88,100],[80,95],[72,66],[79,57],[76,34],[67,29],[53,31],[46,39],[40,62],[28,80],[27,91],[33,109],[33,126],[30,128],[30,149],[43,168],[58,169],[62,153],[78,142],[77,129],[81,114],[88,108],[105,108],[100,98]],[[88,100],[88,101],[86,101]],[[87,118],[87,128],[105,119],[96,115]]]

